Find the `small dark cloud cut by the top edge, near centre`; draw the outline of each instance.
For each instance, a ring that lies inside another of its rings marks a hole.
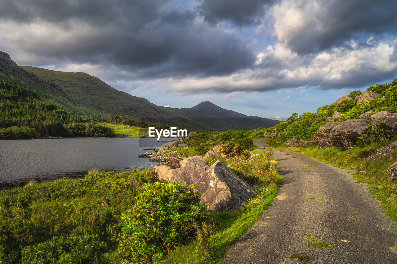
[[[200,15],[211,25],[219,21],[231,21],[235,25],[252,25],[260,23],[265,5],[273,0],[202,0],[198,6]]]

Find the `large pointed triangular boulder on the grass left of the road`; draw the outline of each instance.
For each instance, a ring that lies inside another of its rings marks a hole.
[[[207,210],[210,212],[239,209],[247,199],[256,195],[248,182],[219,160],[206,170],[195,186],[202,193],[200,203],[208,203]]]

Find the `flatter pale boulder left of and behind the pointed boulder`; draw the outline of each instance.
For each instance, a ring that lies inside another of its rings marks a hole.
[[[185,184],[194,184],[210,168],[201,156],[193,156],[179,161],[180,168],[172,169],[170,166],[155,166],[159,179],[167,182],[183,181]]]

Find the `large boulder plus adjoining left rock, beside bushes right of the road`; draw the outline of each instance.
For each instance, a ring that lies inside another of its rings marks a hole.
[[[363,134],[368,134],[369,121],[366,119],[349,119],[343,122],[327,123],[321,126],[314,138],[322,140],[328,139],[328,143],[339,148],[349,149],[352,148],[357,138]]]

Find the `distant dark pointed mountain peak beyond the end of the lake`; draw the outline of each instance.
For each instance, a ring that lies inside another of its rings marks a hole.
[[[281,121],[247,116],[232,110],[223,109],[210,101],[204,101],[191,108],[170,108],[171,111],[178,115],[187,117],[210,130],[251,130],[258,127],[271,127]]]

